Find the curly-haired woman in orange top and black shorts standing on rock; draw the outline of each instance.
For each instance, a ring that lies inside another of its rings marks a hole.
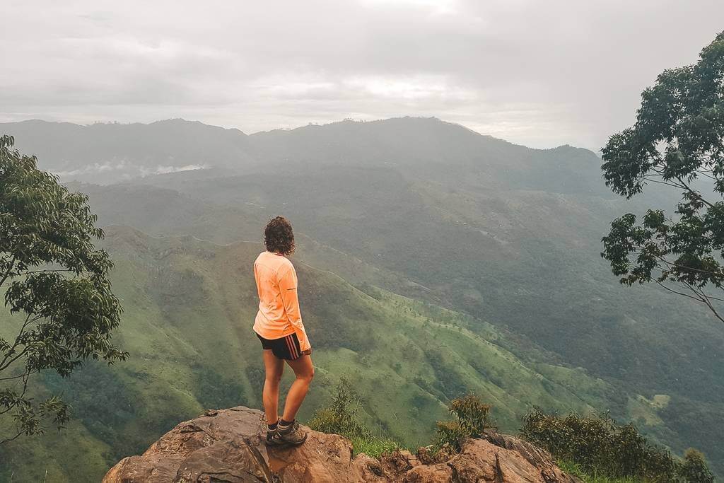
[[[264,228],[266,251],[254,262],[254,278],[259,294],[259,311],[254,332],[264,349],[264,412],[266,444],[300,445],[307,434],[295,416],[307,395],[314,376],[311,345],[304,331],[297,297],[297,272],[287,256],[294,253],[294,232],[285,217],[271,219]],[[290,387],[279,419],[279,380],[285,361],[297,377]]]

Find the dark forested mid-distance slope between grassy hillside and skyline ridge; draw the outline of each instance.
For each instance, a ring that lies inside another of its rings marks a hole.
[[[190,193],[183,198],[149,186],[83,190],[104,222],[133,224],[157,235],[253,240],[266,217],[285,213],[298,233],[315,235],[316,240],[300,236],[303,261],[353,283],[487,319],[517,341],[512,350],[518,356],[542,347],[547,352],[540,360],[584,367],[634,399],[664,395],[668,403],[657,411],[669,429],[661,432],[655,419],[644,417],[644,432],[678,450],[693,445],[713,461],[724,461],[718,439],[724,361],[717,357],[724,330],[698,306],[651,287],[620,287],[610,275],[599,259],[598,240],[607,222],[627,209],[623,202],[525,190],[463,191],[365,171],[310,169],[298,177],[188,180],[188,185],[175,175],[174,188]],[[321,184],[324,179],[337,185]],[[374,180],[374,196],[358,179]],[[160,205],[159,193],[167,199]],[[169,209],[157,217],[154,209],[127,209],[132,205],[126,198]],[[183,216],[173,215],[179,211]],[[611,407],[616,416],[623,417],[626,400],[621,408]]]

